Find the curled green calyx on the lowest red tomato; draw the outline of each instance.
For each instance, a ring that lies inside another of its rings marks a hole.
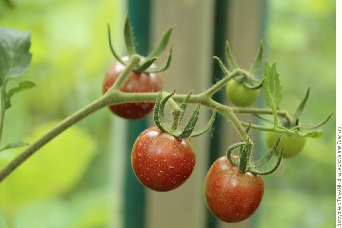
[[[250,128],[250,125],[247,128],[246,132],[248,132],[249,128]],[[278,160],[271,169],[260,170],[260,167],[264,166],[273,158],[273,156],[277,152],[280,138],[281,136],[278,137],[272,149],[263,158],[261,158],[258,161],[255,161],[255,162],[250,161],[251,151],[252,151],[252,144],[251,144],[250,138],[248,138],[246,142],[239,142],[239,143],[235,143],[231,145],[227,150],[227,158],[233,165],[239,168],[241,173],[246,173],[248,171],[248,172],[259,174],[259,175],[269,175],[278,169],[281,163],[282,157],[283,157],[284,146],[281,147]],[[231,155],[233,150],[236,148],[239,148],[238,157]]]

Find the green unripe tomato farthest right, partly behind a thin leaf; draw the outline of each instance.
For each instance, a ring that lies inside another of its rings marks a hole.
[[[272,148],[274,144],[277,142],[280,133],[278,132],[267,132],[266,134],[266,143],[269,148]],[[291,158],[297,155],[304,148],[306,142],[306,137],[298,136],[298,135],[288,135],[282,134],[280,138],[280,142],[278,145],[277,154],[280,153],[280,148],[284,146],[284,154],[283,158]]]

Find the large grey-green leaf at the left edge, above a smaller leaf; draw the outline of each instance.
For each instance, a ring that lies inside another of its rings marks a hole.
[[[0,26],[0,86],[25,73],[31,62],[30,33]]]

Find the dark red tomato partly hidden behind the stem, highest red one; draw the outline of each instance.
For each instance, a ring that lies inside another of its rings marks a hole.
[[[128,56],[125,56],[122,59],[126,62],[129,60]],[[125,66],[119,61],[115,61],[109,67],[103,81],[103,94],[105,94],[111,85],[113,85],[124,67]],[[155,65],[152,65],[151,67],[153,68]],[[126,80],[122,83],[120,91],[127,93],[159,92],[161,85],[162,77],[160,73],[138,73],[131,71]],[[148,113],[152,111],[154,104],[155,103],[150,102],[126,103],[111,105],[109,106],[109,109],[122,118],[136,120],[147,116]]]

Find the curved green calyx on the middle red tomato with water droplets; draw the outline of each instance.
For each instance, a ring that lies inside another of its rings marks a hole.
[[[206,133],[211,128],[212,124],[214,123],[215,116],[216,116],[216,108],[212,112],[212,115],[211,115],[207,125],[203,129],[201,129],[200,131],[193,132],[195,125],[197,123],[198,116],[199,116],[199,109],[200,109],[200,105],[201,105],[201,102],[199,100],[198,104],[196,105],[193,112],[189,116],[189,120],[185,124],[183,130],[180,131],[179,130],[180,122],[182,121],[182,119],[184,117],[184,113],[185,113],[186,107],[188,105],[188,101],[189,101],[189,98],[192,94],[192,91],[190,93],[188,93],[187,96],[184,98],[184,100],[181,104],[181,107],[178,107],[178,105],[171,98],[174,93],[175,93],[175,91],[173,91],[173,93],[170,93],[167,96],[165,96],[164,98],[162,98],[162,88],[160,88],[160,92],[158,94],[156,104],[154,106],[154,111],[153,111],[153,118],[154,118],[154,122],[155,122],[156,126],[162,132],[166,132],[168,134],[171,134],[180,140],[185,139],[185,138],[189,138],[189,137],[196,137],[196,136],[199,136],[201,134]],[[172,125],[170,125],[166,122],[165,116],[164,116],[164,108],[165,108],[165,105],[167,102],[169,102],[171,109],[172,109],[172,116],[173,116]]]

